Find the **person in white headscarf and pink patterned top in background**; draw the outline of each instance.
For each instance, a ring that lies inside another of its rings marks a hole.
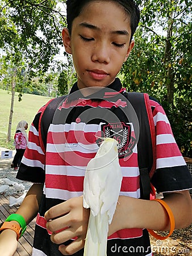
[[[14,170],[19,169],[19,165],[24,155],[24,151],[26,150],[26,147],[27,147],[27,142],[28,142],[28,137],[26,133],[27,128],[28,128],[28,123],[24,120],[20,121],[16,126],[16,132],[14,136],[16,154],[12,161]]]

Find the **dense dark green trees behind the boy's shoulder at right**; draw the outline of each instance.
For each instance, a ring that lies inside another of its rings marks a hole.
[[[192,1],[137,2],[141,22],[122,69],[123,84],[161,101],[183,154],[191,154]]]

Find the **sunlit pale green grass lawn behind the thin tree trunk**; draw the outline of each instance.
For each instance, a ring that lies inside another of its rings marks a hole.
[[[11,126],[11,142],[6,143],[10,115],[11,92],[0,89],[0,147],[6,147],[10,150],[14,149],[13,138],[18,122],[21,120],[26,120],[30,127],[37,111],[50,99],[51,98],[49,97],[33,94],[23,94],[22,101],[19,102],[18,93],[15,93],[14,113]]]

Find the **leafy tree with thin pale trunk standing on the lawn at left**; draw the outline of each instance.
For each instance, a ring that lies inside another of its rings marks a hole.
[[[43,76],[48,71],[53,57],[60,51],[65,15],[57,7],[59,2],[64,1],[0,0],[0,52],[2,59],[5,56],[7,61],[6,65],[1,65],[4,65],[4,71],[7,67],[6,79],[10,75],[7,81],[10,81],[12,92],[8,141],[15,89],[19,91],[20,100],[26,86],[23,82],[16,82],[20,77],[20,64],[24,60],[30,84],[34,77]]]

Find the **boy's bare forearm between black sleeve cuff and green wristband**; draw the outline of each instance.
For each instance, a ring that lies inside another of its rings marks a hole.
[[[22,215],[26,220],[26,224],[29,224],[37,215],[41,197],[43,194],[43,184],[33,184],[22,204],[16,213]]]

